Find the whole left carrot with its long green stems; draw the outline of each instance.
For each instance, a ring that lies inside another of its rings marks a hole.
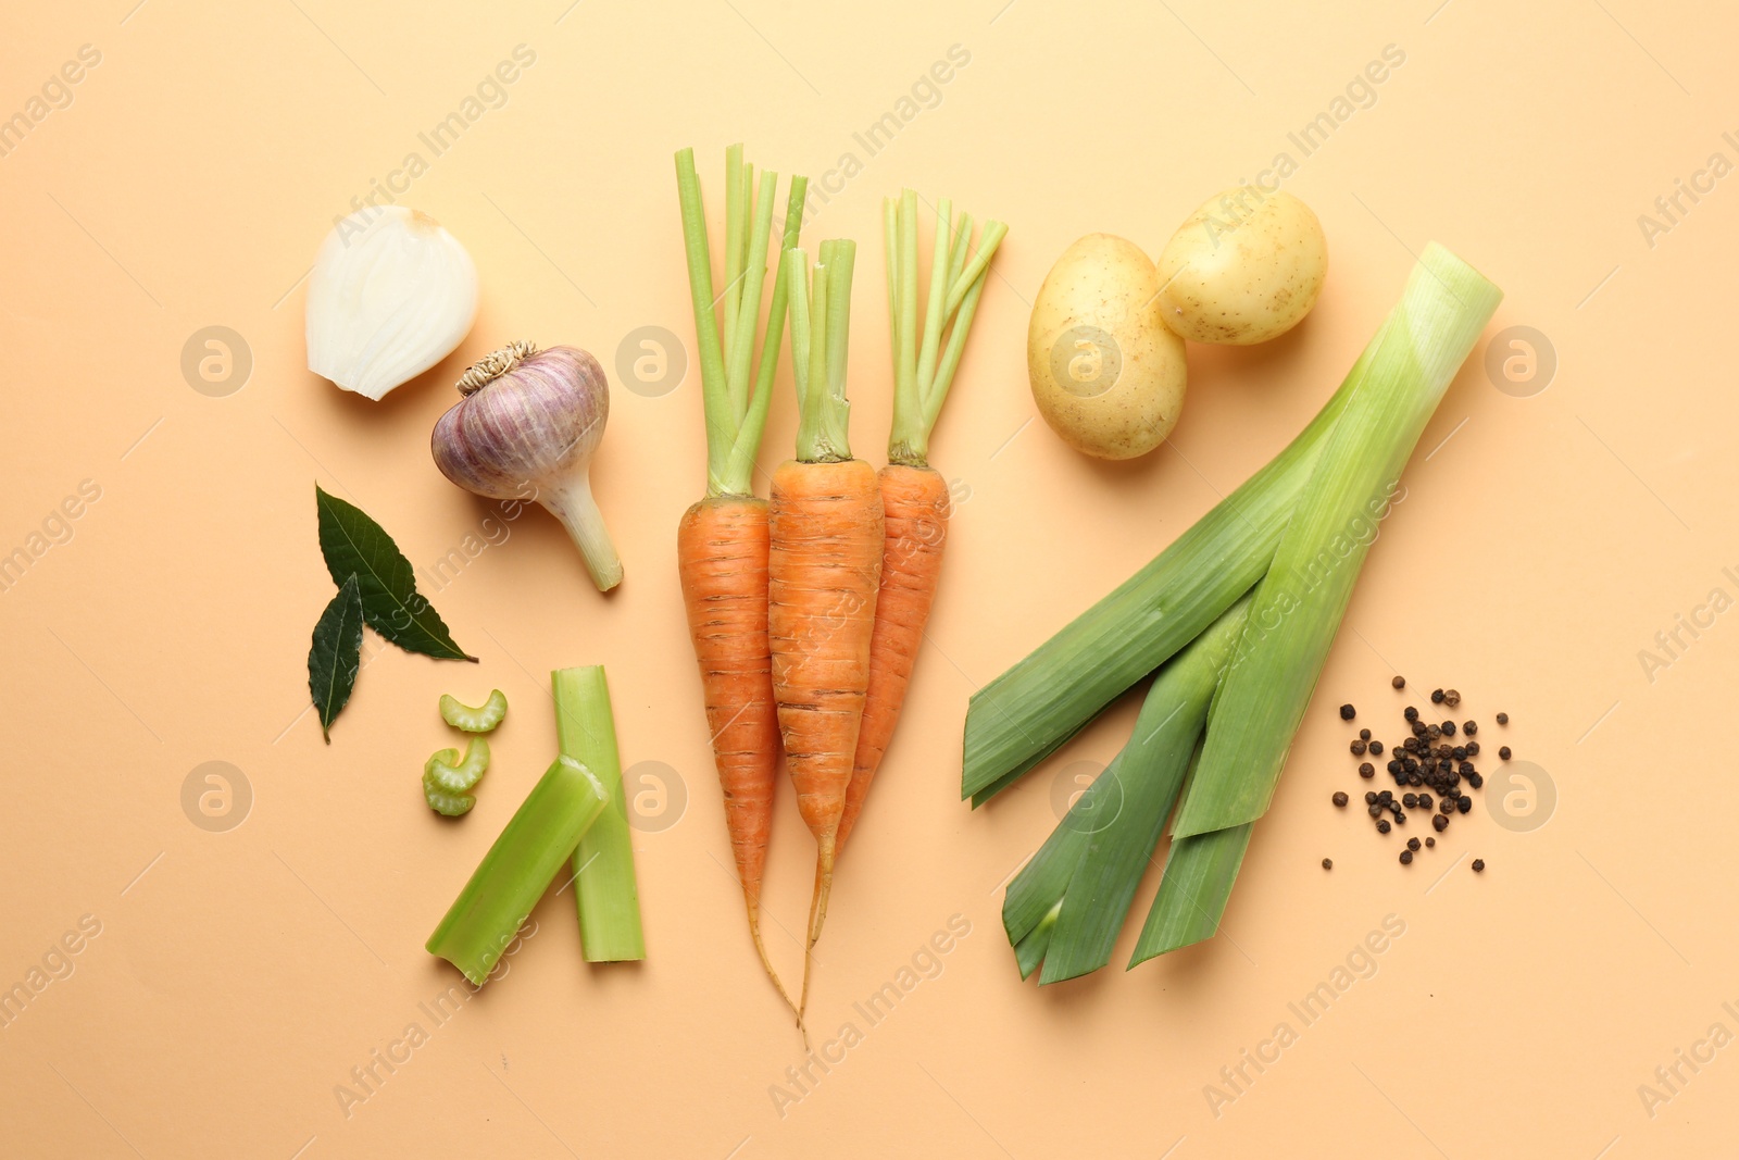
[[[772,699],[772,657],[767,645],[767,504],[753,496],[755,454],[767,426],[779,339],[784,334],[784,278],[774,275],[774,296],[753,367],[755,323],[767,275],[774,193],[779,177],[762,172],[760,197],[743,146],[725,151],[725,303],[723,339],[715,315],[706,212],[694,174],[694,151],[676,153],[676,190],[694,299],[696,350],[706,409],[706,497],[676,527],[676,569],[682,579],[689,635],[701,664],[701,690],[713,739],[713,763],[725,795],[725,828],[743,885],[750,937],[779,998],[796,1012],[760,930],[762,878],[772,831],[772,795],[779,770],[779,732]],[[791,177],[783,247],[796,245],[807,181]],[[760,263],[751,277],[750,257]],[[753,384],[753,391],[750,390]],[[807,948],[805,948],[807,951]],[[802,1026],[802,1016],[798,1016]]]

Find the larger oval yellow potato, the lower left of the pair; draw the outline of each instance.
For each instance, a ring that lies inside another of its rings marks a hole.
[[[1184,341],[1160,317],[1160,280],[1134,242],[1089,233],[1045,275],[1026,329],[1026,374],[1075,450],[1134,459],[1184,405]]]

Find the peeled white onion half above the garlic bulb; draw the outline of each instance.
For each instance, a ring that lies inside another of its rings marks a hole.
[[[379,400],[464,341],[476,266],[428,214],[374,205],[337,223],[308,277],[308,369]]]

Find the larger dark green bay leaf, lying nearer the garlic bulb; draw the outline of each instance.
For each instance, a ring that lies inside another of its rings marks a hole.
[[[421,593],[410,560],[369,515],[315,483],[320,508],[320,551],[325,553],[332,583],[343,584],[355,574],[362,590],[362,616],[369,628],[405,652],[423,652],[449,661],[475,661],[447,631]]]

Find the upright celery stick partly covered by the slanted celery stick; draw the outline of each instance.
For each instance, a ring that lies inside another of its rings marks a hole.
[[[550,673],[555,690],[555,732],[562,755],[598,776],[610,807],[574,849],[574,897],[586,962],[647,957],[640,930],[640,887],[623,793],[623,762],[616,751],[610,685],[602,664]]]

